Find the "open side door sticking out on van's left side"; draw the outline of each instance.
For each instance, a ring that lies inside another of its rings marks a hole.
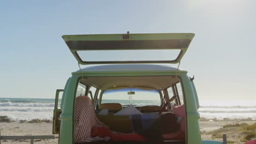
[[[60,114],[61,109],[59,109],[59,95],[62,94],[64,90],[63,89],[57,89],[56,90],[56,96],[55,96],[55,106],[54,106],[54,116],[53,116],[53,134],[59,134],[60,133]]]

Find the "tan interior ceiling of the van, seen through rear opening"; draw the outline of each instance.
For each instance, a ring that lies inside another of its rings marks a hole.
[[[119,88],[161,89],[179,82],[176,76],[84,77],[81,83],[102,90]]]

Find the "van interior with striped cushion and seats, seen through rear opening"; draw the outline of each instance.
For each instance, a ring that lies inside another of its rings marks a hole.
[[[81,77],[75,143],[185,143],[183,93],[176,75]]]

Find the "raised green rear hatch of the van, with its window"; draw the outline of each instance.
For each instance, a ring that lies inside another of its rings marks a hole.
[[[178,63],[195,34],[63,35],[80,64]]]

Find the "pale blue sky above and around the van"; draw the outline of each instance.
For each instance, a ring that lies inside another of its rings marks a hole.
[[[0,98],[54,98],[78,64],[65,34],[195,33],[180,68],[200,100],[256,100],[256,1],[2,1]]]

